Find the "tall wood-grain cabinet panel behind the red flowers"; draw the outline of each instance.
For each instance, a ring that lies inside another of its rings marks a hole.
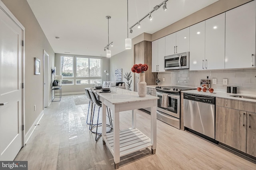
[[[152,73],[152,59],[151,59],[151,42],[142,41],[134,45],[134,64],[148,64],[148,70],[145,71],[145,81],[147,85],[156,84],[156,73]],[[139,81],[139,74],[134,76],[134,91],[137,92],[137,83]]]

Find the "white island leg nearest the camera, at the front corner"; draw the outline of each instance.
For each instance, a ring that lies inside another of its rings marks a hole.
[[[116,111],[114,108],[113,110],[113,115],[114,115],[114,125],[113,125],[113,130],[114,130],[114,163],[115,163],[115,168],[119,168],[119,162],[120,162],[120,134],[119,134],[119,111]]]

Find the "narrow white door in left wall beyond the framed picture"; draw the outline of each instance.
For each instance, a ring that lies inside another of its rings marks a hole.
[[[43,80],[43,105],[44,107],[49,106],[49,55],[44,50],[44,80]]]

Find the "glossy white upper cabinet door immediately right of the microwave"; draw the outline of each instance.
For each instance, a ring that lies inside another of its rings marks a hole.
[[[190,26],[190,70],[205,69],[205,21]]]

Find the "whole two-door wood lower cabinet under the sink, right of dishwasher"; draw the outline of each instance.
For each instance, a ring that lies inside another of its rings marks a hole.
[[[255,106],[254,102],[216,98],[216,140],[256,157]]]

